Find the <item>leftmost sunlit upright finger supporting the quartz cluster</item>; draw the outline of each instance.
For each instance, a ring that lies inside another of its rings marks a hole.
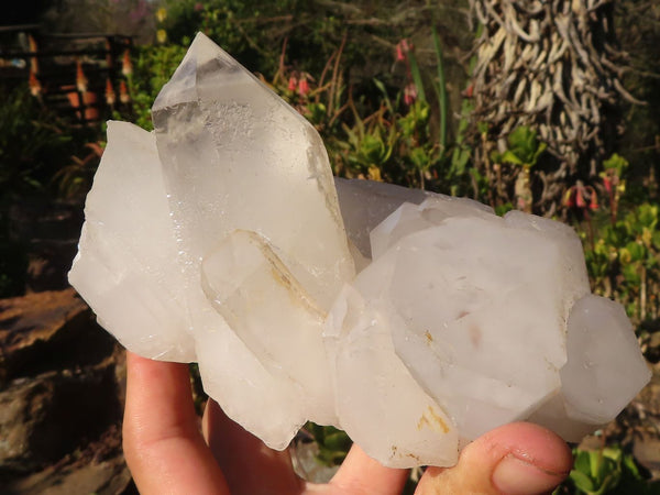
[[[188,366],[128,352],[123,448],[142,495],[229,494],[198,430]]]

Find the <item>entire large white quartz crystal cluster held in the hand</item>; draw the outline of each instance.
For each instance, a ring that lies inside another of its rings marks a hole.
[[[519,419],[580,440],[649,380],[569,227],[334,182],[314,128],[201,34],[153,119],[109,123],[69,279],[270,447],[312,420],[385,465],[451,465]]]

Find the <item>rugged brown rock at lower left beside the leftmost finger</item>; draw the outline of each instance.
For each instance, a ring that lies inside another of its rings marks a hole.
[[[70,288],[3,299],[0,326],[2,493],[51,493],[57,483],[81,493],[70,483],[105,479],[90,488],[101,493],[128,480],[119,428],[124,352],[87,305]],[[81,455],[88,462],[76,464]]]

